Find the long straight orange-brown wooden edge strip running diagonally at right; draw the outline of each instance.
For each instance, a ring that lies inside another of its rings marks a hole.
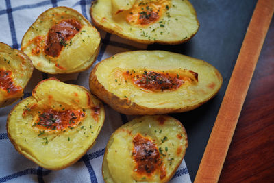
[[[258,0],[199,165],[197,183],[219,180],[273,12],[273,0]]]

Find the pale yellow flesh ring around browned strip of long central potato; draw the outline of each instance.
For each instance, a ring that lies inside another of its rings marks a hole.
[[[113,73],[117,68],[123,71],[135,69],[137,71],[177,71],[178,73],[180,70],[188,69],[198,73],[199,82],[187,86],[182,85],[174,91],[151,93],[140,90],[132,82],[125,82],[125,80],[115,82],[117,77]],[[210,99],[221,86],[219,78],[221,75],[210,64],[167,51],[120,53],[99,64],[95,74],[99,83],[110,93],[121,99],[125,99],[126,96],[132,103],[148,108],[195,106]]]

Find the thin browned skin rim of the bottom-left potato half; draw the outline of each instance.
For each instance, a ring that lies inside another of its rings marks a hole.
[[[54,78],[49,78],[47,80],[57,80]],[[47,80],[42,80],[41,82],[39,82],[39,84],[41,84],[42,82],[46,82]],[[104,122],[105,120],[105,109],[103,107],[103,103],[101,103],[101,101],[99,101],[97,99],[97,97],[92,96],[89,92],[89,90],[87,90],[86,88],[84,88],[83,86],[77,86],[77,85],[73,85],[72,86],[75,87],[79,87],[82,90],[84,90],[86,93],[89,93],[90,95],[90,102],[96,102],[97,105],[99,105],[100,110],[100,119],[101,121]],[[37,87],[37,86],[36,86]],[[36,88],[34,89],[36,90]],[[95,141],[93,141],[92,143],[90,143],[90,145],[88,147],[85,147],[85,151],[83,151],[81,154],[79,154],[78,156],[75,156],[69,163],[64,164],[62,166],[60,166],[60,164],[54,164],[49,166],[46,162],[42,162],[39,159],[37,159],[36,157],[32,156],[32,154],[29,154],[27,151],[25,151],[25,149],[23,148],[23,146],[18,143],[18,139],[15,138],[14,134],[12,134],[12,131],[10,130],[10,125],[11,123],[13,123],[13,121],[11,121],[12,115],[14,110],[18,110],[18,106],[21,105],[21,103],[25,103],[26,101],[28,101],[29,99],[32,99],[33,97],[27,97],[26,99],[23,99],[20,103],[17,103],[16,106],[14,106],[14,108],[12,108],[12,110],[10,111],[10,113],[8,114],[8,119],[7,119],[7,124],[6,124],[6,130],[8,132],[8,138],[10,139],[11,143],[14,145],[14,148],[16,149],[16,151],[18,151],[19,153],[23,154],[23,156],[25,156],[27,159],[32,160],[33,162],[35,162],[36,164],[38,164],[40,167],[44,167],[45,169],[50,169],[50,170],[60,170],[60,169],[64,169],[66,167],[71,166],[72,164],[74,164],[75,162],[77,162],[80,158],[82,158],[82,156],[84,156],[84,154],[86,154],[86,151],[88,151],[88,149],[91,149],[92,146],[95,144]],[[18,113],[18,112],[17,112]],[[16,113],[16,115],[17,115]],[[19,114],[18,114],[19,115]],[[23,123],[25,123],[23,121]],[[99,121],[97,121],[97,123],[99,123]],[[101,126],[99,126],[99,131],[95,132],[97,135],[99,134],[99,132],[101,131],[101,127],[103,126],[103,123],[100,124]],[[35,137],[34,137],[35,138]],[[96,138],[95,138],[96,139]],[[38,139],[37,139],[38,140]],[[42,148],[42,144],[41,147]]]

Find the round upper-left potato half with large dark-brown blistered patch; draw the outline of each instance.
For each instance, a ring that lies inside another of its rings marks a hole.
[[[76,10],[50,8],[40,14],[23,36],[21,50],[42,72],[77,73],[96,60],[100,34]]]

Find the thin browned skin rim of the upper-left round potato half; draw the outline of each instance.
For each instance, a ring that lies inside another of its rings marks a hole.
[[[40,16],[38,16],[38,18],[36,19],[36,21],[34,21],[34,23],[32,23],[32,25],[29,27],[29,29],[27,29],[27,32],[32,32],[34,25],[36,25],[37,21],[39,19],[41,19],[45,14],[47,14],[47,12],[51,12],[52,10],[67,10],[68,12],[73,12],[73,14],[77,14],[77,16],[80,17],[80,19],[82,19],[82,21],[84,21],[84,23],[86,23],[89,27],[92,27],[90,21],[88,21],[82,14],[80,14],[79,12],[77,12],[76,10],[72,9],[72,8],[68,8],[65,6],[59,6],[56,8],[49,8],[48,10],[46,10],[45,12],[42,12],[42,14],[40,14]],[[49,18],[50,19],[50,18]],[[95,27],[92,27],[95,29]],[[98,34],[98,38],[101,39],[100,33],[97,31],[97,29],[95,29],[97,34]],[[25,47],[25,45],[27,45],[26,41],[29,40],[27,38],[27,32],[24,34],[22,41],[21,41],[21,49],[23,47]],[[100,42],[100,41],[99,41]],[[71,52],[73,52],[74,50],[71,50]],[[77,66],[75,69],[58,69],[58,68],[54,68],[51,70],[47,70],[43,67],[37,66],[37,64],[34,64],[34,67],[36,69],[38,69],[39,71],[43,72],[43,73],[49,73],[49,74],[69,74],[69,73],[79,73],[82,71],[86,71],[88,68],[90,68],[90,66],[92,66],[92,64],[96,61],[97,56],[99,53],[99,45],[97,47],[97,49],[95,50],[95,52],[92,54],[92,56],[90,56],[90,58],[88,58],[88,60],[86,62],[84,62],[84,64]],[[69,58],[68,58],[69,59]],[[73,60],[72,60],[73,61]],[[45,60],[43,60],[43,62],[48,62],[47,59],[45,58]]]

